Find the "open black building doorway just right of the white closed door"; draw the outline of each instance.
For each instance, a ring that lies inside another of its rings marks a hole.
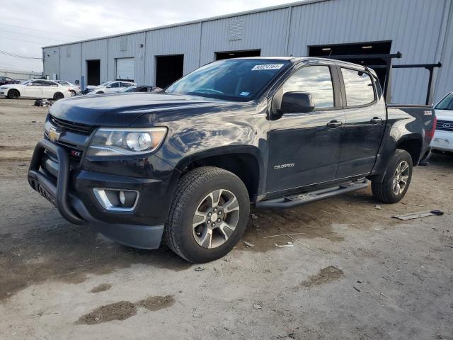
[[[156,56],[156,86],[165,89],[183,77],[184,55]]]

